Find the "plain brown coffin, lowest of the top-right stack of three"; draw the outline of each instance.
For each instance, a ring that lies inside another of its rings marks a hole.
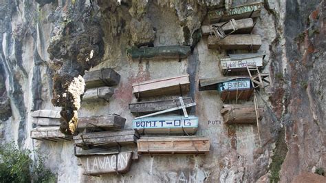
[[[224,39],[208,36],[208,49],[219,50],[258,50],[261,36],[253,34],[231,34]]]

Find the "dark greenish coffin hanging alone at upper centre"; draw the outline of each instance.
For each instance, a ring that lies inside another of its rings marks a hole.
[[[127,50],[131,58],[186,58],[191,52],[190,46],[133,47]]]

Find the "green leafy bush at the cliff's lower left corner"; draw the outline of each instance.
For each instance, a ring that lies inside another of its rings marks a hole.
[[[56,182],[56,176],[44,166],[45,158],[36,162],[29,149],[18,149],[14,143],[0,148],[0,182]]]

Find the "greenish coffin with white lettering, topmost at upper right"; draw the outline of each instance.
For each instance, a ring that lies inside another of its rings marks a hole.
[[[230,10],[221,8],[208,12],[210,23],[218,23],[221,21],[228,21],[230,19],[246,19],[259,17],[263,3],[250,3],[241,6],[231,7]]]

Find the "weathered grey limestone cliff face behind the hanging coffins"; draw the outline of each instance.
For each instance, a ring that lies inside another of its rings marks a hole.
[[[48,155],[45,165],[58,182],[296,182],[296,175],[324,172],[325,1],[263,1],[252,34],[262,38],[258,52],[266,54],[263,72],[273,85],[257,94],[260,128],[224,125],[217,91],[199,92],[199,78],[222,77],[219,59],[231,53],[208,49],[201,34],[208,10],[252,2],[0,1],[1,143],[14,140]],[[190,46],[191,54],[127,56],[132,47],[169,45]],[[85,71],[107,67],[121,76],[109,103],[81,103]],[[77,166],[74,142],[30,138],[32,111],[58,107],[66,134],[74,133],[78,116],[119,114],[131,128],[133,83],[182,74],[191,81],[183,96],[197,103],[189,112],[199,118],[196,134],[210,138],[207,155],[140,155],[124,175],[91,177]]]

